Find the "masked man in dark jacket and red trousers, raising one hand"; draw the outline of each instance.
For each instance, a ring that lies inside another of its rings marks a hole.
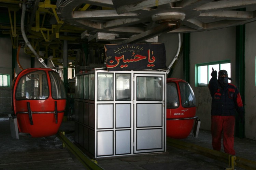
[[[236,111],[240,121],[243,122],[244,108],[240,93],[236,86],[228,83],[226,70],[218,72],[212,68],[209,90],[212,96],[211,132],[212,147],[221,150],[223,131],[223,146],[225,153],[235,155],[234,151],[234,124]]]

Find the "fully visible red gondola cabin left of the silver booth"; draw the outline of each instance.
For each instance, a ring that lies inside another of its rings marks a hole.
[[[49,68],[21,71],[13,85],[13,110],[18,130],[32,137],[57,133],[66,107],[66,92],[59,74]]]

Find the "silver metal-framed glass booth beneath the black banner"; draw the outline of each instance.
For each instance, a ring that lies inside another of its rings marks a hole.
[[[90,157],[166,151],[166,72],[76,74],[75,142]]]

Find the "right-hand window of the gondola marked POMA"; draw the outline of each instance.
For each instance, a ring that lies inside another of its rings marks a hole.
[[[181,102],[183,107],[196,106],[196,98],[188,83],[180,82]]]

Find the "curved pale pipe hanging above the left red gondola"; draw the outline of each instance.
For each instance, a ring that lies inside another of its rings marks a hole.
[[[23,36],[23,39],[25,40],[25,43],[26,45],[29,47],[29,49],[33,52],[33,54],[37,57],[38,61],[44,66],[47,68],[47,65],[44,63],[44,60],[43,58],[40,58],[39,55],[37,54],[37,52],[34,50],[34,48],[31,46],[31,44],[29,43],[28,41],[28,38],[26,36],[26,33],[25,33],[25,27],[24,27],[24,20],[25,20],[25,13],[26,13],[26,9],[27,9],[27,6],[26,6],[26,3],[22,3],[22,18],[21,18],[21,23],[20,23],[20,27],[21,27],[21,31],[22,31],[22,36]]]

